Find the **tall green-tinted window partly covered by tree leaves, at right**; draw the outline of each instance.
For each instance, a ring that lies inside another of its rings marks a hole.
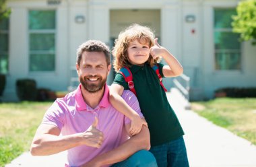
[[[235,9],[214,9],[215,69],[241,69],[241,43],[239,34],[232,32],[232,15]]]

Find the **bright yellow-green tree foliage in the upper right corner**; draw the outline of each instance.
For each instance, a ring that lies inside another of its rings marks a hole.
[[[256,0],[241,1],[236,12],[232,16],[233,32],[239,33],[241,40],[253,40],[256,44]]]

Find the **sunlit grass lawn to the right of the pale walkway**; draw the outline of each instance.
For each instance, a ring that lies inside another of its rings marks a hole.
[[[193,102],[192,109],[256,145],[256,98],[216,98]]]

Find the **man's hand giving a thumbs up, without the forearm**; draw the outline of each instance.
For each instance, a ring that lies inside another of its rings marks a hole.
[[[82,137],[82,142],[85,145],[99,148],[103,143],[103,133],[98,130],[96,127],[98,125],[98,118],[95,116],[94,122],[92,125],[83,133],[81,133],[80,137]]]

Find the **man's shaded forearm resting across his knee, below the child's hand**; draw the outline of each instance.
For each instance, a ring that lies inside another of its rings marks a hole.
[[[125,125],[127,133],[129,133],[130,126],[130,124]],[[96,156],[96,158],[92,159],[87,164],[84,164],[84,167],[115,164],[126,160],[129,156],[141,149],[150,149],[150,131],[145,125],[143,125],[141,131],[137,135],[131,136],[130,139],[125,141],[122,145],[119,145],[119,147],[106,152],[105,154],[101,154],[100,156]]]

